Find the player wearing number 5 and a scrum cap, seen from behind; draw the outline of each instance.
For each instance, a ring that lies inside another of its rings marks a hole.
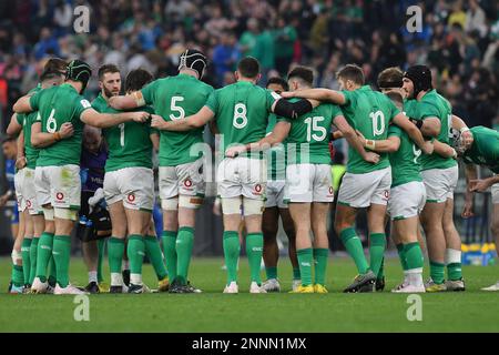
[[[186,50],[180,57],[179,74],[153,81],[133,95],[110,100],[116,109],[151,104],[167,121],[182,121],[203,108],[213,88],[201,81],[206,57]],[[203,128],[187,132],[160,131],[160,197],[163,210],[163,248],[170,292],[198,292],[187,274],[194,244],[195,214],[204,200]]]

